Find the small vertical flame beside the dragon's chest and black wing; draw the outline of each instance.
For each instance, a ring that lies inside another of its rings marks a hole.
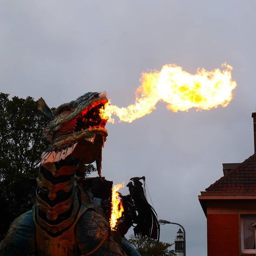
[[[117,220],[122,217],[124,211],[122,201],[117,192],[122,187],[124,187],[124,182],[122,184],[114,185],[112,188],[112,209],[110,218],[110,228],[112,231],[116,230]]]

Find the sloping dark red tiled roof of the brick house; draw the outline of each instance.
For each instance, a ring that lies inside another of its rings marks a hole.
[[[256,191],[256,153],[205,190]]]

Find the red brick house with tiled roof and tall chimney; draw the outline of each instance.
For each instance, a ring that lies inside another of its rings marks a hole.
[[[256,113],[254,154],[242,163],[223,164],[224,176],[201,192],[207,218],[208,256],[255,255]]]

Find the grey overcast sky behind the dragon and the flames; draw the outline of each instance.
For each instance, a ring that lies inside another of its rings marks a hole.
[[[159,103],[131,124],[107,124],[103,151],[103,175],[114,183],[146,176],[158,217],[185,227],[188,255],[205,256],[198,194],[223,176],[222,163],[254,151],[255,11],[254,0],[1,0],[0,91],[50,107],[107,91],[127,106],[148,69],[232,65],[238,87],[226,108],[173,113]],[[177,231],[161,226],[161,240]]]

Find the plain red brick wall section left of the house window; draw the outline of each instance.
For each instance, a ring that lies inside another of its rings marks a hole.
[[[239,256],[238,214],[207,215],[207,256]]]

